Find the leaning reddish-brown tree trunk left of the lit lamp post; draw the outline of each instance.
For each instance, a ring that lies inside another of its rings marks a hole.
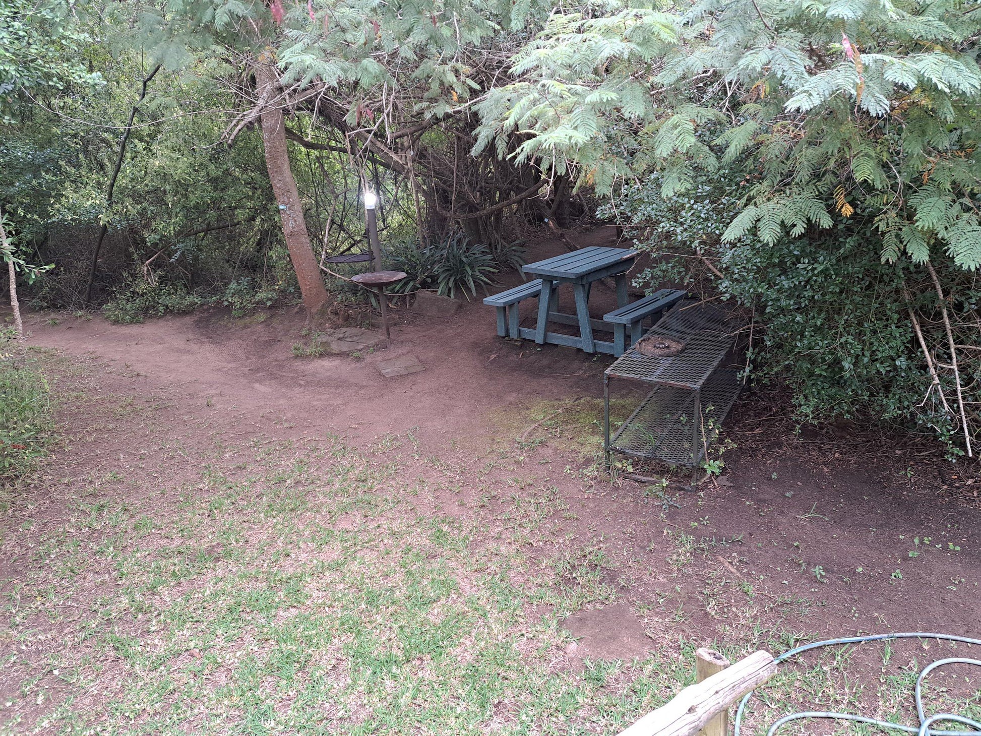
[[[265,54],[263,55],[265,56]],[[289,153],[286,148],[286,127],[283,108],[278,106],[277,97],[283,92],[276,67],[268,59],[260,58],[255,67],[256,88],[262,110],[262,142],[266,151],[266,169],[269,181],[273,184],[273,194],[280,206],[283,218],[283,235],[289,249],[289,260],[296,272],[296,281],[303,295],[303,306],[308,315],[313,315],[327,303],[327,289],[317,268],[303,220],[303,205],[296,189],[296,180],[289,168]]]

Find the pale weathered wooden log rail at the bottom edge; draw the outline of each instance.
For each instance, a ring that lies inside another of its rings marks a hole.
[[[619,736],[695,736],[750,690],[777,672],[769,652],[753,652],[725,669],[690,685],[666,705],[651,710]]]

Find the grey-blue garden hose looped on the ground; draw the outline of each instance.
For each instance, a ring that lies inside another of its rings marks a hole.
[[[865,642],[884,642],[891,641],[893,639],[941,639],[947,642],[962,642],[964,644],[976,644],[981,646],[981,639],[969,639],[964,636],[954,636],[953,634],[929,634],[921,631],[915,631],[898,634],[874,634],[872,636],[852,636],[842,639],[827,639],[823,642],[805,644],[802,647],[792,649],[780,655],[780,657],[776,657],[775,661],[779,664],[780,662],[786,661],[791,657],[800,655],[801,653],[812,649],[818,649],[819,647],[834,647],[843,644],[864,644]],[[972,720],[971,718],[965,718],[964,716],[957,715],[955,713],[934,713],[933,715],[927,715],[926,711],[923,710],[922,690],[924,678],[937,667],[954,663],[976,664],[977,666],[981,667],[981,659],[968,659],[966,657],[947,657],[945,659],[936,659],[923,667],[923,669],[920,670],[919,675],[916,677],[916,689],[913,694],[916,701],[916,714],[919,716],[918,727],[906,726],[902,723],[893,723],[888,720],[869,718],[864,715],[853,715],[852,713],[838,713],[831,710],[801,710],[800,712],[790,713],[789,715],[784,715],[783,717],[778,718],[770,726],[769,730],[766,732],[766,736],[773,736],[777,729],[785,723],[789,723],[792,720],[800,720],[801,718],[832,718],[835,720],[852,720],[857,721],[858,723],[867,723],[869,725],[878,726],[879,728],[886,728],[893,731],[915,733],[918,734],[918,736],[981,736],[981,722]],[[740,736],[740,727],[743,724],[743,711],[746,709],[746,704],[749,702],[751,697],[752,692],[747,693],[743,700],[740,701],[739,708],[736,710],[736,719],[734,721],[734,725],[736,726],[736,736]],[[937,722],[960,723],[974,730],[939,731],[930,728],[931,725]]]

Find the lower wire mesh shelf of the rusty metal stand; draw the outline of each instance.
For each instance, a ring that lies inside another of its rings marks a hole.
[[[703,427],[718,427],[743,388],[738,371],[718,370],[700,392]],[[610,441],[610,448],[637,457],[662,460],[669,465],[697,465],[704,457],[699,432],[693,461],[695,393],[674,386],[658,386],[641,402]],[[706,438],[706,441],[711,438]]]

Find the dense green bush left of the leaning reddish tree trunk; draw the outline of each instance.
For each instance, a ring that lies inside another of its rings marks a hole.
[[[129,70],[117,74],[129,77]],[[205,88],[183,91],[208,93]],[[119,119],[122,103],[107,91],[74,112]],[[221,99],[215,103],[221,105]],[[99,251],[92,302],[121,302],[111,311],[132,314],[147,299],[170,303],[173,294],[155,298],[146,292],[158,282],[207,297],[222,296],[235,281],[232,292],[239,292],[242,283],[256,291],[292,286],[256,135],[242,135],[232,148],[214,146],[221,129],[203,117],[181,119],[166,129],[138,129],[129,139],[116,202],[107,208],[104,190],[118,132],[69,121],[55,135],[53,125],[50,116],[34,111],[0,142],[0,202],[10,212],[13,232],[34,262],[55,266],[26,289],[29,303],[92,305],[82,302],[100,220],[108,222],[108,233]],[[121,301],[137,281],[147,287]]]

